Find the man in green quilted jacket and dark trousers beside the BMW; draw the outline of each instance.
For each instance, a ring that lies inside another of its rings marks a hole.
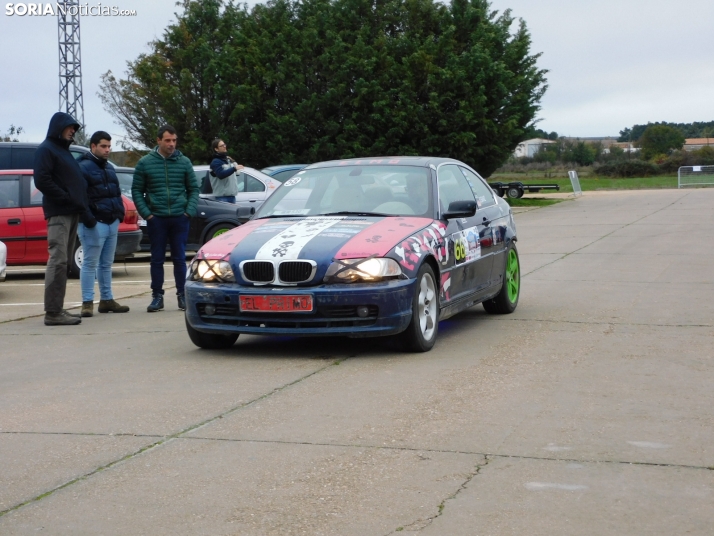
[[[186,241],[189,222],[196,215],[198,181],[191,161],[176,150],[176,129],[159,128],[157,146],[136,164],[131,193],[139,215],[146,220],[151,240],[151,303],[149,313],[164,308],[164,259],[171,248],[178,308],[186,309]]]

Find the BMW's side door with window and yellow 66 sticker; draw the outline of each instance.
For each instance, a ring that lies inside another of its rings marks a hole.
[[[476,201],[473,191],[456,164],[442,164],[437,170],[440,213],[454,201]],[[448,220],[450,289],[447,301],[459,300],[485,289],[491,275],[491,258],[481,255],[481,237],[485,233],[478,209],[469,218]]]

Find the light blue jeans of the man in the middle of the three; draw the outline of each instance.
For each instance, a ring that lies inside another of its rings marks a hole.
[[[77,235],[82,243],[84,258],[79,283],[82,288],[82,301],[94,301],[94,279],[99,281],[99,299],[113,300],[112,263],[117,249],[119,220],[107,225],[97,222],[92,229],[83,223],[77,226]]]

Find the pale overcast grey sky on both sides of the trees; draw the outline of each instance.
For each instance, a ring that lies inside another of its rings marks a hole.
[[[82,0],[84,1],[84,0]],[[90,5],[99,3],[92,0]],[[252,2],[251,4],[254,4]],[[22,126],[41,141],[59,106],[57,20],[8,16],[0,1],[0,132]],[[175,21],[175,0],[103,0],[134,17],[81,20],[87,129],[123,131],[97,90]],[[714,120],[714,55],[707,36],[712,0],[492,0],[526,21],[539,66],[549,71],[539,127],[565,136],[617,136],[633,124]]]

